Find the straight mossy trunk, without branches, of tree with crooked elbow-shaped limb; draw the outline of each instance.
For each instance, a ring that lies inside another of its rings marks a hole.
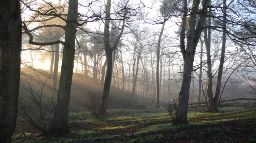
[[[67,24],[65,27],[65,45],[63,49],[59,91],[57,97],[57,109],[53,122],[53,131],[57,134],[69,132],[69,101],[74,68],[75,37],[77,31],[76,27],[74,26],[76,23],[69,21],[76,21],[77,18],[78,0],[69,0]]]

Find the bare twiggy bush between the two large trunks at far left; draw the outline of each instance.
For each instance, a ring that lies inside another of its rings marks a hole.
[[[44,92],[50,76],[42,72],[22,75],[26,83],[20,85],[24,95],[19,101],[19,116],[37,130],[48,133],[55,114],[55,96]]]

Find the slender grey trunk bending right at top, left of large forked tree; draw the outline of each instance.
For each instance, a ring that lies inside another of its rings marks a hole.
[[[164,17],[165,19],[165,17]],[[161,40],[162,40],[162,35],[163,35],[163,30],[164,30],[164,26],[165,26],[165,22],[163,23],[163,26],[161,28],[161,32],[160,35],[158,37],[158,41],[157,41],[157,71],[156,71],[156,84],[157,84],[157,107],[159,106],[159,96],[160,96],[160,85],[161,83],[159,83],[159,62],[160,62],[160,45],[161,45]]]

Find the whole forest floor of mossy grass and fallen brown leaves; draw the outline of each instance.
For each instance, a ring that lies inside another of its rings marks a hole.
[[[94,120],[90,112],[70,113],[70,133],[42,135],[17,126],[13,142],[256,142],[256,108],[225,107],[206,113],[189,108],[189,124],[173,126],[165,108],[108,110]]]

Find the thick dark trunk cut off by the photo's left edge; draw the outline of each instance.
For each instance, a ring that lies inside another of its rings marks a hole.
[[[0,2],[0,142],[12,142],[18,112],[20,52],[22,44],[20,2]]]

